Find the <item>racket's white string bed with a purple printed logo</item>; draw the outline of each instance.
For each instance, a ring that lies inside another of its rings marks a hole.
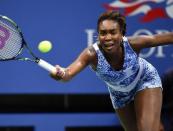
[[[1,48],[0,48],[0,60],[11,59],[17,56],[22,48],[22,38],[17,27],[8,22],[7,20],[0,19],[0,26],[4,28],[0,30]],[[6,32],[8,31],[8,32]],[[5,37],[5,33],[9,33],[7,40],[2,40]],[[3,43],[2,43],[3,42]]]

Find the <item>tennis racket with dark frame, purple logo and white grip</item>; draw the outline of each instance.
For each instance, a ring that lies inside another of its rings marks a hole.
[[[24,48],[31,54],[31,58],[20,57]],[[18,25],[7,16],[0,15],[0,61],[9,60],[32,61],[51,73],[56,72],[53,65],[35,56]]]

